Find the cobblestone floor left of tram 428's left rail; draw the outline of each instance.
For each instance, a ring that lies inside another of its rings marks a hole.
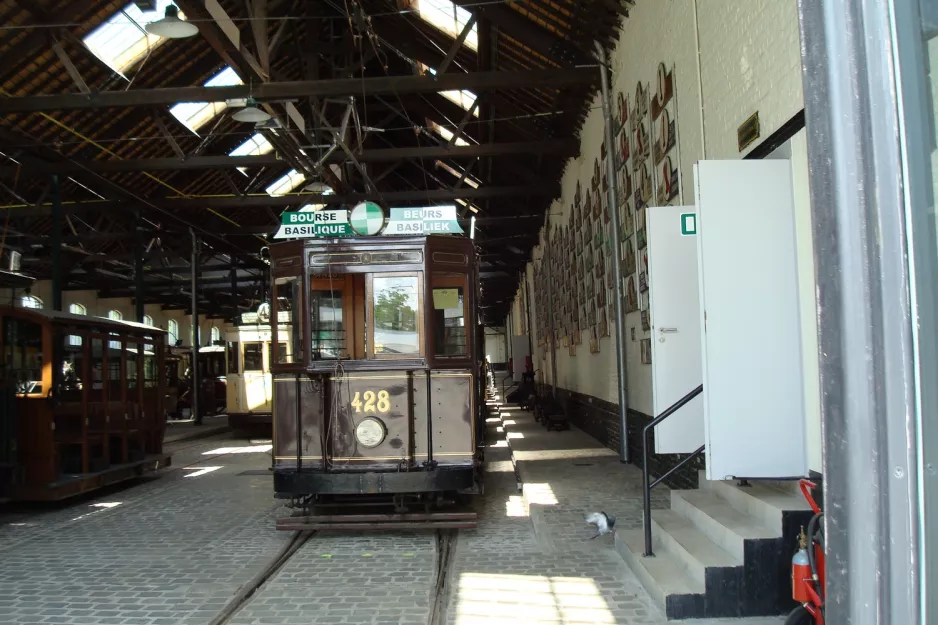
[[[176,443],[159,477],[4,514],[0,623],[208,623],[288,538],[273,528],[266,450]]]

